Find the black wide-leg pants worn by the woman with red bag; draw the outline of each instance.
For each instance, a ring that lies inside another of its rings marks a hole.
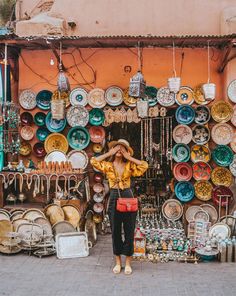
[[[120,190],[121,197],[132,198],[131,189]],[[116,256],[132,256],[134,252],[134,230],[137,212],[118,212],[116,202],[119,197],[117,189],[110,190],[108,215],[112,231],[113,253]],[[122,226],[124,240],[122,239]]]

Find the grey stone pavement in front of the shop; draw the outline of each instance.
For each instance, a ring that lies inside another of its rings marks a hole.
[[[0,296],[236,295],[236,263],[134,262],[131,276],[112,266],[110,236],[99,236],[87,258],[0,255]]]

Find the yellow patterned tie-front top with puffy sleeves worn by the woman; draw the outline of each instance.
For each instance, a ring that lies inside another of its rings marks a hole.
[[[92,157],[90,159],[90,163],[92,164],[92,166],[95,167],[95,169],[106,174],[110,188],[117,188],[118,184],[120,189],[129,188],[130,178],[140,177],[148,169],[148,163],[146,161],[142,160],[142,163],[140,165],[127,161],[124,172],[121,178],[119,178],[118,173],[115,171],[112,162],[104,160],[97,161],[95,157]]]

